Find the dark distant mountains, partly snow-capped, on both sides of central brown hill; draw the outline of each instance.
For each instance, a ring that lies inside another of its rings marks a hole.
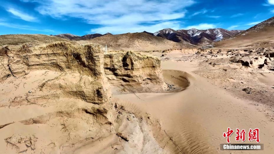
[[[220,41],[223,38],[234,36],[238,33],[241,33],[243,30],[225,30],[222,28],[216,29],[208,29],[208,30],[173,30],[171,28],[165,28],[163,30],[159,30],[155,33],[149,33],[144,31],[143,33],[147,33],[152,36],[162,37],[167,40],[171,40],[173,42],[188,44],[188,45],[206,45],[212,42]],[[104,35],[112,35],[111,33],[106,33]],[[54,35],[56,37],[60,37],[67,40],[80,41],[80,40],[91,40],[97,37],[104,36],[102,34],[87,34],[84,36],[77,36],[73,34],[58,34]],[[121,35],[121,34],[120,34]]]

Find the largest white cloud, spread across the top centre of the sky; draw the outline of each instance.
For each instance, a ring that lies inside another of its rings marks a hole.
[[[194,0],[21,0],[23,2],[37,2],[36,8],[42,15],[65,19],[74,17],[83,22],[99,25],[93,29],[96,33],[125,33],[132,27],[157,28],[176,19],[184,18],[186,7],[193,5]],[[155,25],[155,26],[154,26]],[[120,29],[116,30],[114,29]],[[170,27],[167,25],[167,27]],[[165,28],[167,28],[165,27]],[[109,31],[111,30],[111,31]],[[159,29],[151,30],[157,31]]]

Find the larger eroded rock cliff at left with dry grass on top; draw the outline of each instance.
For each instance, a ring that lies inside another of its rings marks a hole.
[[[60,72],[58,77],[44,81],[40,91],[51,89],[47,91],[49,97],[61,91],[59,96],[100,104],[110,97],[103,61],[101,46],[96,44],[59,42],[34,48],[22,46],[17,51],[5,47],[1,49],[0,79],[18,78],[35,70]]]

